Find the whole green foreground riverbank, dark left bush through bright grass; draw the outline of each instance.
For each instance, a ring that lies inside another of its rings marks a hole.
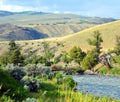
[[[71,77],[59,74],[59,72],[52,79],[43,77],[37,92],[25,91],[19,85],[19,82],[13,79],[8,72],[1,70],[0,76],[4,77],[0,77],[0,102],[120,102],[120,100],[108,97],[100,98],[88,93],[75,92],[75,83]],[[58,78],[64,80],[58,81]],[[9,80],[9,83],[6,80]],[[15,86],[21,88],[21,90],[18,92],[17,89],[15,90]]]

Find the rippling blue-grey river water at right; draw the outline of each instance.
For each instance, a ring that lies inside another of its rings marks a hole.
[[[120,99],[120,77],[76,75],[73,79],[78,83],[77,89],[81,92]]]

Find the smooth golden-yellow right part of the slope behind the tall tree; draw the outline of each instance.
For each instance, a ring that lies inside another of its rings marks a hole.
[[[115,46],[116,35],[120,36],[120,21],[98,25],[87,30],[78,32],[74,35],[69,35],[62,38],[65,42],[66,49],[72,46],[80,46],[84,50],[88,50],[91,46],[88,45],[87,39],[92,38],[93,32],[99,30],[103,38],[103,50],[112,49]]]

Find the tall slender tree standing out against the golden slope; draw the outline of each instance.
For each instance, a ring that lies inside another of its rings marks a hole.
[[[88,39],[88,43],[92,46],[95,46],[94,50],[95,50],[97,56],[99,56],[100,50],[101,50],[101,43],[103,42],[101,33],[98,30],[94,31],[93,37],[94,37],[93,40]]]

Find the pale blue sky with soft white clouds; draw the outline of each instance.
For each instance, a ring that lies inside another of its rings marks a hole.
[[[0,10],[120,18],[120,0],[0,0]]]

